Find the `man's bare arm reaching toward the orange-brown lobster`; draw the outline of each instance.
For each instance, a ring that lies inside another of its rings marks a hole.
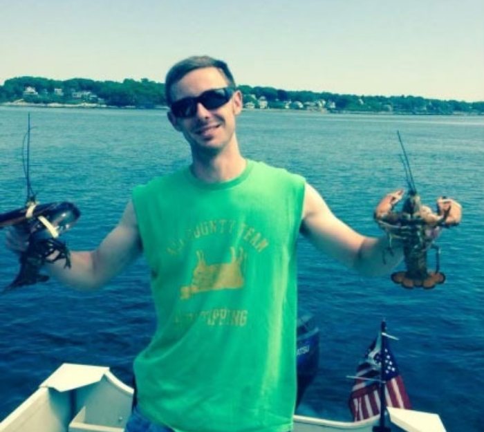
[[[402,247],[389,252],[386,236],[367,237],[339,220],[321,195],[306,184],[301,232],[318,250],[366,275],[387,274],[402,260]]]

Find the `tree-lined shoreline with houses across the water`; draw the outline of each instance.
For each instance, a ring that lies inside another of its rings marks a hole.
[[[245,109],[287,109],[322,113],[483,115],[484,102],[420,96],[348,95],[241,85]],[[0,104],[99,108],[166,109],[165,84],[149,79],[123,82],[16,77],[0,86]]]

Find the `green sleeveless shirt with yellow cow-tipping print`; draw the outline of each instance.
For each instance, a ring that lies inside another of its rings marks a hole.
[[[134,362],[139,408],[176,432],[286,432],[296,396],[304,179],[248,161],[136,187],[158,326]]]

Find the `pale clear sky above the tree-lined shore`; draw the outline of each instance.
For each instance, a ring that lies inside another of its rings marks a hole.
[[[0,84],[211,55],[237,84],[484,101],[483,0],[0,0],[0,22]]]

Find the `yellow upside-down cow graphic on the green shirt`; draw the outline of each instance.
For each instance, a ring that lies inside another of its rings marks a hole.
[[[198,262],[193,270],[192,281],[180,289],[180,299],[189,299],[199,292],[243,288],[242,265],[246,254],[241,247],[239,254],[236,254],[235,247],[230,247],[230,253],[232,258],[228,263],[207,264],[203,252],[196,251]]]

